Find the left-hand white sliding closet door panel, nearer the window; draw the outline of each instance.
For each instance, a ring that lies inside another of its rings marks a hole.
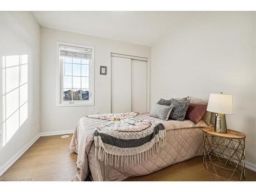
[[[111,59],[111,113],[131,112],[131,59]]]

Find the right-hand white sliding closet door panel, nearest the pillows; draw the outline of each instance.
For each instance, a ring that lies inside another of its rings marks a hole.
[[[132,111],[147,112],[147,61],[132,59]]]

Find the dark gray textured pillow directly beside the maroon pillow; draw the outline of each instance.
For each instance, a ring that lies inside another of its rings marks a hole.
[[[172,99],[172,105],[174,107],[172,112],[170,113],[169,118],[177,121],[183,121],[186,116],[189,102],[190,102],[189,99],[186,99],[186,100]]]

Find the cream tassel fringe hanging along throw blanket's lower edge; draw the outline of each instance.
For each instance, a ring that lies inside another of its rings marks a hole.
[[[102,146],[95,147],[95,160],[103,161],[105,165],[111,166],[133,166],[148,161],[159,148],[165,145],[165,137],[160,138],[149,150],[135,155],[113,155],[107,153]]]

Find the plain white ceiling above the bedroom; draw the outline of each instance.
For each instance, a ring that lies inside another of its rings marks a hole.
[[[188,11],[33,11],[42,27],[152,46],[185,22]]]

